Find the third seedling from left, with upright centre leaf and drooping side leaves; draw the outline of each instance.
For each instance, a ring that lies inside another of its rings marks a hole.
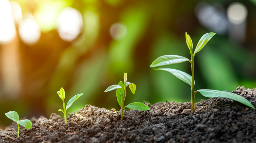
[[[119,105],[121,107],[121,119],[122,120],[123,120],[123,110],[125,108],[139,110],[139,111],[146,111],[146,110],[150,109],[147,105],[140,103],[140,102],[134,102],[134,103],[130,103],[130,104],[124,106],[124,100],[125,100],[125,96],[126,96],[126,87],[129,86],[132,93],[134,94],[135,90],[136,90],[136,85],[134,83],[130,83],[127,81],[127,73],[124,73],[123,79],[124,79],[124,84],[122,81],[120,81],[118,85],[112,85],[104,91],[104,92],[108,92],[108,91],[117,89],[117,92],[116,92],[117,102],[119,103]]]

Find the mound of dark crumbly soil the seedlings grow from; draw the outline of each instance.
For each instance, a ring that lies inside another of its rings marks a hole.
[[[256,107],[256,89],[238,87],[232,93],[243,96]],[[115,109],[86,105],[77,113],[69,114],[67,124],[53,113],[49,119],[32,118],[32,128],[13,122],[0,129],[0,142],[232,142],[256,141],[256,111],[239,102],[225,98],[191,103],[156,103],[148,111],[125,111],[124,120]]]

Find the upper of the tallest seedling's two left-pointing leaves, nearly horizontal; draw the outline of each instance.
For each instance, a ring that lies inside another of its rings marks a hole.
[[[158,67],[158,66],[165,66],[165,65],[171,65],[171,64],[178,64],[185,61],[189,61],[188,58],[183,56],[177,56],[177,55],[165,55],[160,56],[156,60],[152,62],[150,65],[151,68]]]

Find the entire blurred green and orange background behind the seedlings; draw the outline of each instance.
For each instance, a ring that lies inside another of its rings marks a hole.
[[[194,47],[216,32],[195,57],[195,89],[233,91],[256,87],[256,1],[171,0],[1,0],[0,126],[20,118],[63,116],[57,91],[68,109],[86,104],[120,109],[115,91],[123,80],[137,86],[131,102],[190,102],[190,87],[149,65],[162,55],[190,57],[185,31]],[[191,73],[189,62],[166,66]],[[166,68],[162,67],[162,68]],[[196,95],[196,102],[205,99]]]

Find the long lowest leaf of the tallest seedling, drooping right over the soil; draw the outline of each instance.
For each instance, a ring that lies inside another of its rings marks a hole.
[[[230,99],[233,99],[237,102],[243,103],[246,106],[249,106],[249,107],[255,109],[254,106],[248,100],[246,100],[244,97],[242,97],[240,95],[237,95],[237,94],[234,94],[234,93],[231,93],[231,92],[211,90],[211,89],[200,89],[200,90],[197,90],[197,91],[199,91],[205,97],[230,98]]]

